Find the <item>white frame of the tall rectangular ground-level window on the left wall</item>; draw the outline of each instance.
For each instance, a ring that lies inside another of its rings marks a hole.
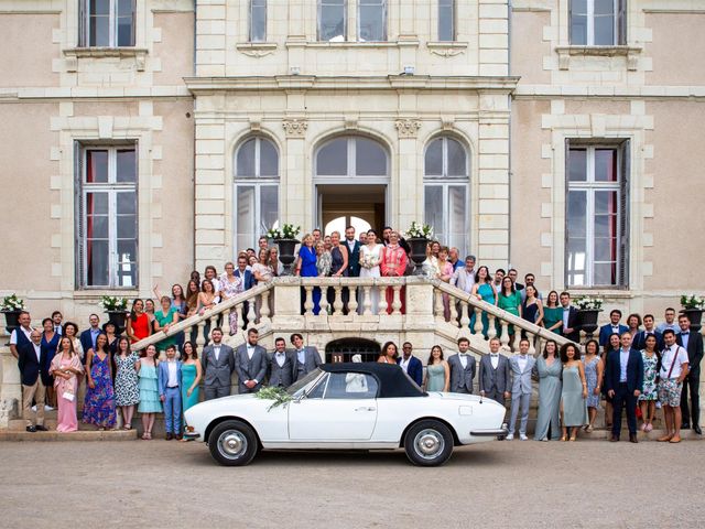
[[[139,199],[139,144],[138,141],[124,143],[83,144],[75,142],[76,147],[76,169],[75,169],[75,255],[76,255],[76,288],[78,290],[135,290],[140,282],[140,199]],[[134,182],[117,182],[117,153],[120,150],[134,151]],[[108,182],[88,183],[86,173],[88,170],[87,159],[90,151],[108,151]],[[108,283],[88,284],[88,252],[87,244],[87,196],[91,193],[105,193],[108,195]],[[134,277],[135,283],[132,285],[119,284],[119,262],[118,262],[118,229],[117,229],[117,197],[120,193],[134,193]]]

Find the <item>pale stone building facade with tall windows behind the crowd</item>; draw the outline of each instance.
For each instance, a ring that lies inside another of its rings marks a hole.
[[[0,0],[1,289],[86,321],[274,223],[438,236],[625,311],[697,280],[695,0]]]

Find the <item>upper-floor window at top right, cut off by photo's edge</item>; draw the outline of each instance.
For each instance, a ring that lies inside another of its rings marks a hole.
[[[627,0],[571,0],[571,44],[626,44],[626,3]]]

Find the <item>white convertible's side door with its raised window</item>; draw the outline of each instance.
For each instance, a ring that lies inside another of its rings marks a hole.
[[[367,441],[377,422],[375,377],[328,373],[306,397],[289,404],[289,439],[295,442]]]

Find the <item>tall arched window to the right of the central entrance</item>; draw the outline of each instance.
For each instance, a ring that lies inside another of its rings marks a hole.
[[[464,255],[469,248],[469,163],[465,147],[448,137],[426,148],[424,163],[424,223],[448,247]]]

